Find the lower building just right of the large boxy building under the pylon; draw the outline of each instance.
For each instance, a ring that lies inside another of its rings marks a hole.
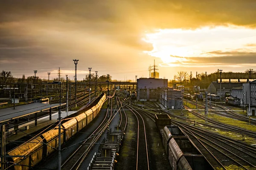
[[[181,91],[173,88],[157,88],[158,101],[167,109],[181,108]]]

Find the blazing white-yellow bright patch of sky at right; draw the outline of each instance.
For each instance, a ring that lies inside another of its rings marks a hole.
[[[197,29],[160,29],[143,39],[153,45],[146,54],[159,57],[162,66],[238,67],[246,63],[222,62],[222,57],[246,55],[255,57],[256,29],[243,26],[215,26]],[[252,55],[253,54],[253,55]],[[216,62],[204,64],[206,58],[218,57]]]

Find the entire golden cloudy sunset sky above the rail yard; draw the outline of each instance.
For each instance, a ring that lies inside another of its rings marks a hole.
[[[0,70],[42,79],[256,70],[255,0],[0,0]]]

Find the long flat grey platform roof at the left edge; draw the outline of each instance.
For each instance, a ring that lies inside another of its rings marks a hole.
[[[0,123],[29,116],[30,114],[41,111],[47,111],[50,108],[57,108],[59,105],[60,104],[32,103],[28,105],[16,106],[15,110],[13,108],[0,109]],[[66,105],[66,103],[61,103],[61,105]]]

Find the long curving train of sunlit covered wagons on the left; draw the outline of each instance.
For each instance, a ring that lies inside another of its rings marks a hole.
[[[67,116],[61,122],[61,144],[67,142],[78,131],[86,127],[95,119],[105,102],[106,95],[102,93],[88,108],[77,113]],[[10,150],[8,156],[24,156],[10,157],[8,162],[11,170],[27,170],[34,167],[38,162],[45,159],[50,153],[58,148],[58,124],[55,128],[48,128],[36,137],[21,144],[20,146]]]

